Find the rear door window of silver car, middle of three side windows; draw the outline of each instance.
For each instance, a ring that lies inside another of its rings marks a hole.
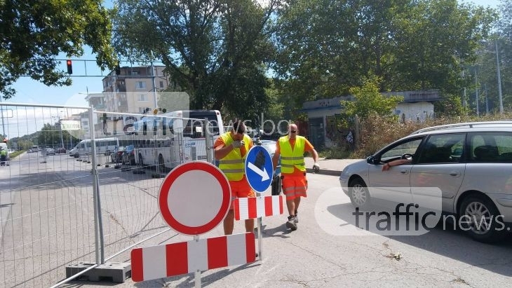
[[[431,135],[422,146],[417,163],[459,163],[465,139],[465,134]]]

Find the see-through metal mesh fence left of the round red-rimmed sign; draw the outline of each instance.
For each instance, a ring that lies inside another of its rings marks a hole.
[[[166,172],[213,162],[215,133],[203,119],[1,107],[8,146],[24,151],[0,167],[3,287],[58,286],[129,261],[130,249],[170,230],[157,203]]]

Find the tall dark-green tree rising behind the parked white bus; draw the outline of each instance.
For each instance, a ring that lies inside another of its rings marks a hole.
[[[114,46],[133,60],[161,59],[191,109],[248,118],[267,107],[269,29],[281,1],[119,0]]]

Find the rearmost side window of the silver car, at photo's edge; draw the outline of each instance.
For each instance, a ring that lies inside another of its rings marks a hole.
[[[512,162],[512,133],[471,133],[469,141],[470,162]]]

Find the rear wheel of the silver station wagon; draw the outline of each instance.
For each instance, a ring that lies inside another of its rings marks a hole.
[[[480,242],[496,242],[504,235],[503,217],[491,200],[483,196],[469,196],[462,201],[459,224],[471,238]]]

